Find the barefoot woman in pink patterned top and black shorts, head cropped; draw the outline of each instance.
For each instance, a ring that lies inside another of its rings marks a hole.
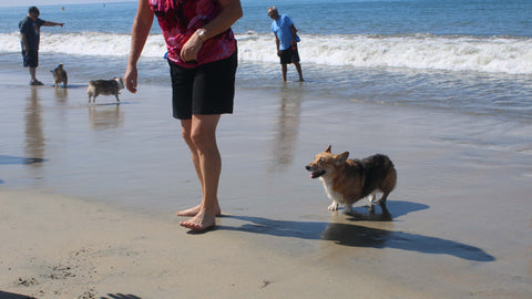
[[[233,113],[237,48],[231,25],[242,16],[239,0],[139,0],[133,22],[124,75],[130,92],[136,92],[136,64],[155,17],[166,42],[173,116],[181,120],[203,192],[200,205],[176,213],[191,217],[180,224],[193,230],[214,227],[222,214],[216,127],[222,114]]]

